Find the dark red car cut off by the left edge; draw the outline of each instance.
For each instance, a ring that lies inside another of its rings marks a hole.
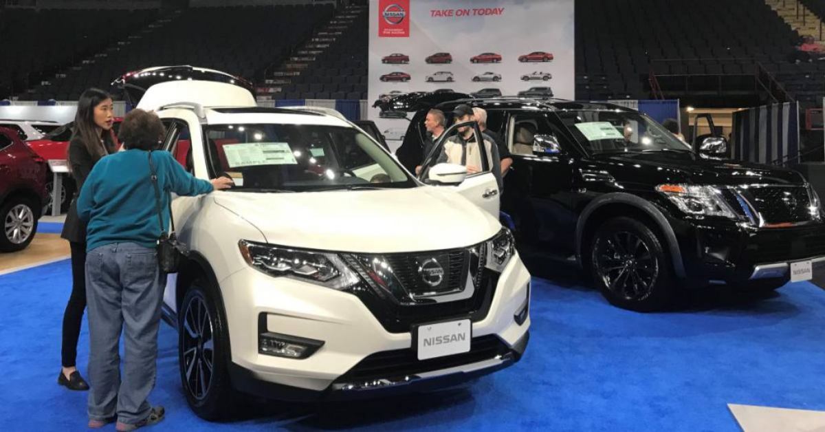
[[[35,238],[45,178],[45,160],[15,131],[0,127],[0,252],[25,249]]]

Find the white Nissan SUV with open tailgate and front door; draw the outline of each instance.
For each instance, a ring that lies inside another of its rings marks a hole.
[[[257,107],[227,83],[158,83],[139,107],[196,177],[236,184],[172,201],[190,252],[163,311],[197,415],[228,414],[235,390],[379,396],[521,358],[530,274],[493,216],[489,171],[433,164],[429,178],[454,186],[426,185],[351,122]]]

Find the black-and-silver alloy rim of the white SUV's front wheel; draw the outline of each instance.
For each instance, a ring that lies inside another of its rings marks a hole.
[[[214,334],[212,316],[203,298],[194,297],[186,305],[183,318],[183,364],[186,390],[203,400],[212,387]]]

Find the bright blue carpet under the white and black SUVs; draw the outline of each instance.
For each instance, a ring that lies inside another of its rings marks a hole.
[[[59,373],[69,262],[0,277],[0,430],[82,430],[86,394]],[[210,424],[186,407],[176,335],[162,325],[156,430],[739,430],[726,404],[825,410],[825,292],[755,299],[705,292],[681,311],[637,314],[591,289],[535,281],[526,357],[469,387],[326,405],[253,401]],[[87,334],[78,364],[85,372]],[[113,430],[113,428],[109,428]]]

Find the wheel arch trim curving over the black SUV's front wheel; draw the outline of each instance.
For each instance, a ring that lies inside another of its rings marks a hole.
[[[582,251],[587,249],[592,235],[602,222],[613,216],[631,216],[651,222],[651,227],[661,236],[672,259],[673,273],[677,278],[686,278],[685,265],[681,258],[681,249],[673,228],[667,222],[662,211],[653,203],[629,193],[609,193],[596,198],[582,211],[576,225],[576,261],[584,267],[585,258]]]

